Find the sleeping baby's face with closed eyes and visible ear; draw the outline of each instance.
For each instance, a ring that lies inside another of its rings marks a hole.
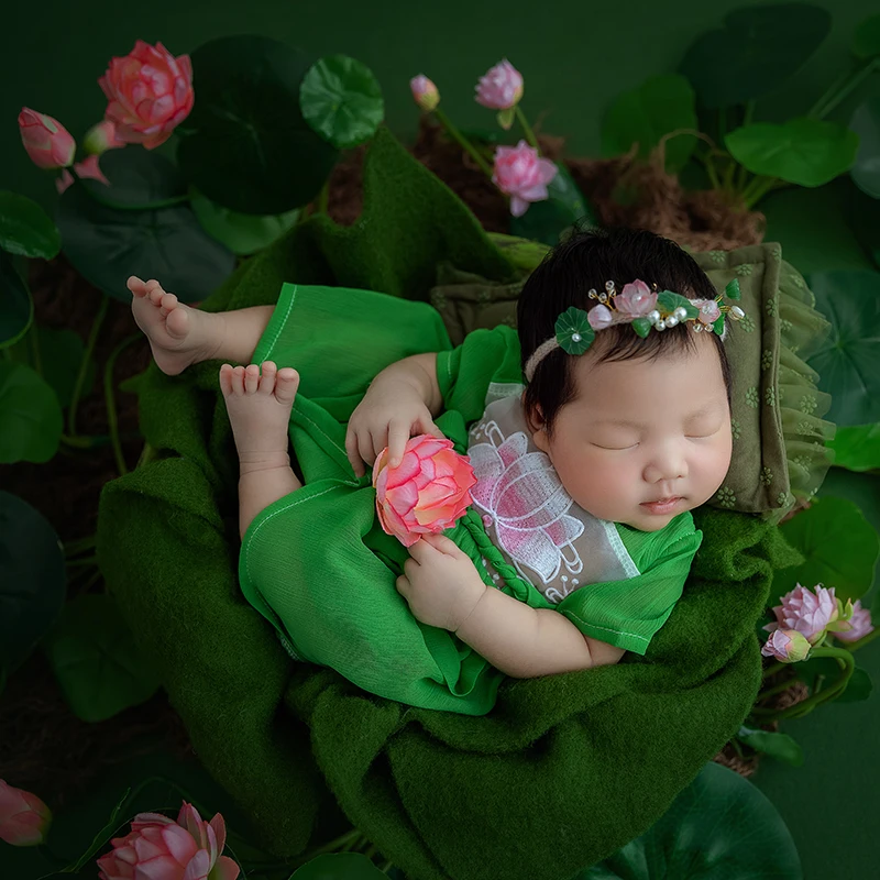
[[[576,398],[538,449],[600,519],[657,531],[718,490],[730,464],[730,410],[708,333],[654,361],[576,359]]]

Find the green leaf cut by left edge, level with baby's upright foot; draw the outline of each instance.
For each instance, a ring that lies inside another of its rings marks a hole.
[[[55,392],[30,366],[0,363],[0,464],[42,464],[57,451],[64,421]]]

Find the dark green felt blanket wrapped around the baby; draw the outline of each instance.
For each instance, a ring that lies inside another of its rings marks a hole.
[[[466,208],[382,132],[361,220],[297,227],[205,308],[273,302],[285,280],[425,299],[441,261],[515,273]],[[646,831],[734,734],[757,693],[755,624],[776,528],[697,512],[703,548],[645,658],[505,681],[487,716],[411,708],[292,661],[242,597],[238,461],[218,363],[133,383],[155,451],[101,497],[98,553],[199,758],[295,855],[338,804],[416,880],[563,880]],[[337,814],[338,818],[338,814]]]

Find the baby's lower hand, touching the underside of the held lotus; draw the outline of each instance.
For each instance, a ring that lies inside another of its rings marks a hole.
[[[397,592],[416,619],[454,632],[488,587],[466,553],[442,535],[427,535],[409,548]]]

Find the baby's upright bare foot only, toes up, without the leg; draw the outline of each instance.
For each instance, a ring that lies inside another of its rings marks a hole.
[[[220,367],[220,389],[235,437],[242,471],[288,464],[288,426],[290,409],[299,387],[299,374],[273,361]]]

